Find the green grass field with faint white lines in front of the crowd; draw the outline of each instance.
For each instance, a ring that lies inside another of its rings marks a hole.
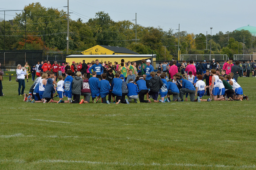
[[[0,169],[256,169],[256,78],[238,83],[249,101],[79,105],[4,77]]]

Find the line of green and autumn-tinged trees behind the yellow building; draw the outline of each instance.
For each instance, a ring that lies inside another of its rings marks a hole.
[[[26,30],[26,33],[25,33]],[[137,30],[137,40],[136,31]],[[25,39],[26,34],[26,39]],[[46,8],[40,3],[24,7],[9,21],[0,20],[1,50],[65,51],[67,48],[67,13]],[[157,60],[177,59],[178,37],[181,54],[252,54],[255,37],[247,30],[204,35],[173,33],[173,29],[143,27],[124,20],[114,22],[108,13],[99,11],[83,22],[69,19],[69,51],[84,51],[95,45],[126,47],[139,54],[157,54]],[[26,42],[26,43],[25,43]]]

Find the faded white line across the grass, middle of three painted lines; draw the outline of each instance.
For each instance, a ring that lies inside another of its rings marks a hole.
[[[141,139],[141,138],[118,138],[118,137],[96,137],[96,136],[58,136],[58,135],[48,135],[48,136],[36,136],[36,135],[24,135],[24,134],[12,134],[12,135],[1,135],[0,138],[10,138],[10,137],[49,137],[49,138],[87,138],[87,139],[107,139],[107,140],[134,140],[134,141],[177,141],[177,142],[251,142],[254,143],[256,141],[232,141],[232,140],[222,140],[222,141],[211,141],[211,140],[179,140],[179,139]]]

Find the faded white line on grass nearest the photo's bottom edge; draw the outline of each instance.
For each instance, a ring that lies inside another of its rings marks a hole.
[[[24,160],[19,159],[0,159],[0,163],[26,163]],[[192,163],[127,163],[127,162],[95,162],[83,160],[54,160],[54,159],[41,159],[33,163],[88,163],[88,164],[104,164],[104,165],[125,165],[125,166],[183,166],[183,167],[224,167],[224,168],[256,168],[256,165],[218,165],[218,164],[192,164]]]

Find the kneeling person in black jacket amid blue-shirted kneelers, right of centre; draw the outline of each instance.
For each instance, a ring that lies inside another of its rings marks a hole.
[[[149,80],[149,88],[150,88],[149,95],[152,96],[152,98],[154,99],[154,102],[159,102],[159,100],[157,100],[159,90],[164,83],[162,82],[160,77],[155,76],[155,72],[150,72],[150,75],[152,78]]]

